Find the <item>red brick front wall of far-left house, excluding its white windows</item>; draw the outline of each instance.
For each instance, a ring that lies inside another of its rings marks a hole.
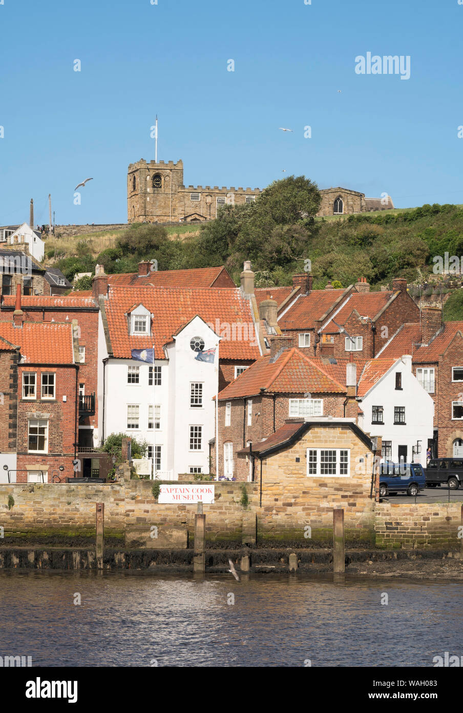
[[[73,476],[72,461],[76,427],[76,368],[72,366],[19,366],[18,378],[18,471],[24,471],[27,465],[41,463],[48,471],[51,483],[52,470],[65,466],[60,476]],[[22,398],[22,374],[25,371],[36,373],[37,399]],[[56,374],[55,399],[41,399],[41,374]],[[66,396],[66,401],[63,401]],[[50,414],[48,419],[48,453],[28,453],[28,413]],[[18,483],[27,482],[27,473],[17,473]]]

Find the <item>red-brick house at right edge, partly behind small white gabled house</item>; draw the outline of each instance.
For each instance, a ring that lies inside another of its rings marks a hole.
[[[440,307],[402,324],[380,356],[412,355],[413,373],[435,402],[432,456],[463,455],[463,322],[442,322]]]

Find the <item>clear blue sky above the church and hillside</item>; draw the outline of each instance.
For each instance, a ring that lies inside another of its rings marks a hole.
[[[57,223],[125,222],[156,113],[185,185],[293,173],[397,207],[463,202],[457,0],[157,2],[0,4],[0,225],[28,221],[31,198],[48,222],[48,193]],[[355,73],[368,51],[410,55],[410,79]]]

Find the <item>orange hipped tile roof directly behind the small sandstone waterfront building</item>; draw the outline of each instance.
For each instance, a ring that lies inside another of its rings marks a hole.
[[[269,355],[243,371],[219,393],[219,400],[269,394],[345,394],[345,386],[329,376],[323,365],[309,359],[301,349],[286,349],[272,364]]]

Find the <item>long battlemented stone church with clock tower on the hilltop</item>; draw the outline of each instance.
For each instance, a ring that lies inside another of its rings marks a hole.
[[[131,163],[127,176],[128,222],[204,222],[214,220],[222,205],[244,205],[256,200],[260,188],[219,188],[214,185],[183,184],[183,161]],[[365,198],[348,188],[320,191],[321,207],[317,215],[345,215],[369,210],[393,208],[387,198]]]

